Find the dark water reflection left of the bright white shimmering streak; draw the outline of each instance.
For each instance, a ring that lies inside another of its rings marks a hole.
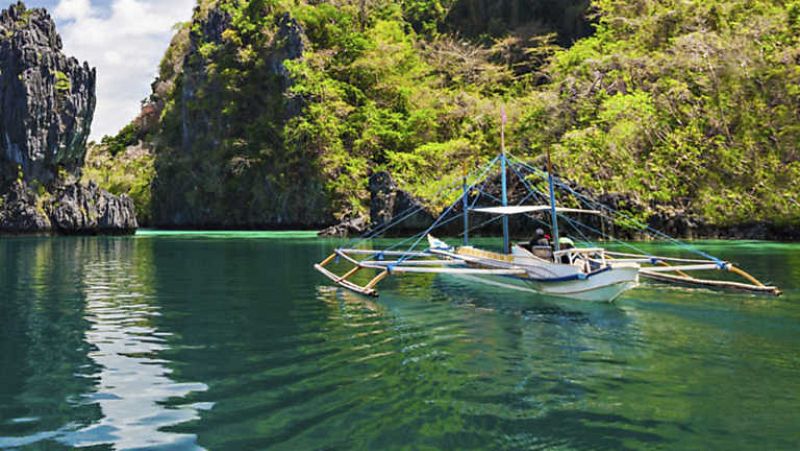
[[[97,421],[97,406],[75,402],[93,390],[80,287],[85,248],[74,243],[0,239],[0,447],[21,446]],[[61,262],[76,262],[63,265]]]

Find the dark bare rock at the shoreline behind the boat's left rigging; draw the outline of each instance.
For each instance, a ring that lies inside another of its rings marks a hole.
[[[435,219],[418,199],[399,189],[388,172],[373,174],[369,180],[369,191],[372,230],[396,220],[400,222],[392,228],[392,232],[425,230]],[[416,208],[420,208],[417,213],[400,220],[404,214]]]

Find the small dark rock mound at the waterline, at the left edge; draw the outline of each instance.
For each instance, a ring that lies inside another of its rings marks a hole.
[[[50,219],[39,205],[36,193],[21,181],[12,183],[0,198],[0,233],[47,233]]]

